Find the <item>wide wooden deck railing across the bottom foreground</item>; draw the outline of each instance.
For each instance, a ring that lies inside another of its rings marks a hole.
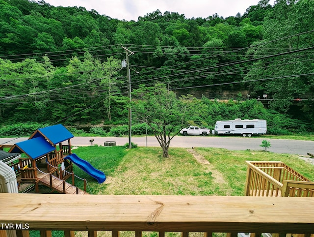
[[[40,230],[50,236],[52,230],[64,231],[65,237],[74,231],[86,231],[96,237],[98,231],[110,231],[118,237],[120,231],[199,232],[213,233],[304,234],[314,233],[314,199],[290,197],[236,196],[128,196],[128,195],[60,195],[0,193],[0,229],[17,230],[18,237],[29,230]],[[0,237],[5,232],[0,231]],[[157,236],[155,234],[155,236]]]

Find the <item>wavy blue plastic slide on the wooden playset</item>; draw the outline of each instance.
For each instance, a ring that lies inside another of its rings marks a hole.
[[[64,159],[72,161],[91,177],[96,178],[99,183],[102,183],[106,180],[106,176],[102,171],[95,169],[89,162],[79,158],[75,153],[64,157]]]

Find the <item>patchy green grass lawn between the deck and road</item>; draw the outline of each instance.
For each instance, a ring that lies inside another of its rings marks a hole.
[[[104,183],[74,165],[74,172],[86,178],[92,194],[105,195],[244,195],[246,160],[282,161],[310,180],[314,165],[297,155],[262,150],[230,151],[221,148],[195,148],[209,164],[201,164],[185,148],[170,148],[162,158],[161,148],[79,147],[80,158],[106,175]],[[76,178],[76,185],[83,182]]]

